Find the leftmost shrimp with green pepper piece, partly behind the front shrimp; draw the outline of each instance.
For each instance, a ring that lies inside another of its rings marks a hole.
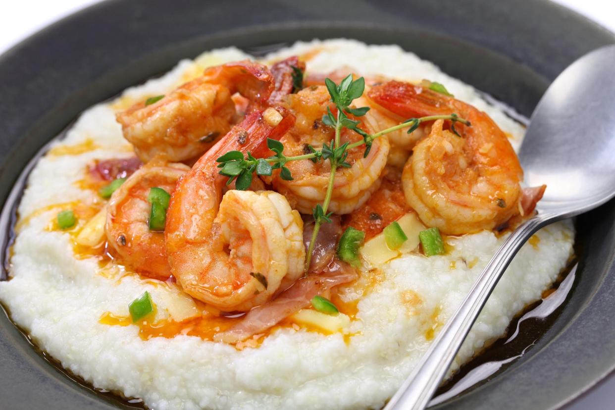
[[[151,204],[147,197],[152,187],[173,192],[175,183],[189,170],[186,165],[169,164],[157,157],[113,192],[107,205],[105,232],[122,264],[151,278],[169,278],[164,233],[149,230]]]

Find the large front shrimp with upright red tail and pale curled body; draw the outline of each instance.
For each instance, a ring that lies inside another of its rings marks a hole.
[[[273,112],[277,111],[277,112]],[[287,110],[253,112],[180,180],[167,211],[165,237],[171,271],[183,290],[225,311],[247,311],[303,275],[303,222],[271,191],[228,191],[216,159],[232,150],[268,153],[292,126]]]

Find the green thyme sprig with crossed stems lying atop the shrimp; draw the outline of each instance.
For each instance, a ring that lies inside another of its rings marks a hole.
[[[298,77],[298,76],[297,76]],[[298,79],[295,79],[293,76],[293,80],[298,83]],[[296,84],[298,85],[298,84]],[[331,111],[330,107],[327,107],[327,113],[322,117],[322,122],[329,127],[332,127],[335,130],[335,138],[329,141],[329,143],[324,143],[321,149],[315,149],[311,145],[307,145],[304,151],[307,151],[306,154],[299,156],[285,156],[284,155],[284,144],[277,140],[272,140],[268,138],[267,147],[274,152],[274,155],[268,158],[258,158],[247,153],[244,157],[244,154],[240,151],[229,151],[226,152],[223,156],[216,159],[216,162],[219,162],[218,168],[221,168],[220,174],[224,176],[228,176],[227,185],[231,184],[232,181],[236,181],[235,187],[236,189],[244,191],[248,189],[250,184],[252,183],[253,174],[256,175],[272,175],[273,170],[280,170],[280,178],[285,179],[286,181],[292,181],[293,176],[290,171],[286,167],[286,164],[291,161],[309,159],[314,162],[328,160],[330,162],[330,173],[329,173],[329,181],[327,185],[327,192],[325,192],[325,198],[323,200],[322,205],[317,204],[314,210],[312,211],[312,216],[314,216],[314,231],[312,232],[312,237],[308,246],[308,252],[306,254],[305,261],[305,272],[308,272],[312,253],[314,251],[314,243],[316,237],[318,235],[320,226],[323,223],[331,222],[332,212],[327,212],[329,205],[331,203],[331,196],[333,195],[333,185],[335,182],[335,173],[338,167],[349,168],[351,164],[347,162],[348,152],[351,149],[357,148],[361,145],[365,145],[365,151],[363,152],[363,157],[367,157],[370,153],[371,145],[376,138],[380,136],[386,135],[388,133],[401,130],[403,128],[408,128],[407,133],[410,134],[416,130],[423,122],[433,121],[437,119],[450,120],[452,122],[451,131],[457,135],[459,133],[455,129],[454,125],[456,122],[461,122],[461,124],[470,126],[470,122],[466,119],[462,119],[457,114],[450,115],[437,115],[437,116],[426,116],[420,118],[410,118],[407,119],[400,124],[394,125],[393,127],[386,128],[384,130],[378,131],[376,133],[370,134],[359,127],[360,121],[352,119],[349,116],[354,117],[362,117],[370,110],[369,107],[359,107],[359,108],[351,108],[352,101],[363,95],[363,91],[365,90],[365,79],[360,77],[356,80],[353,79],[352,74],[349,74],[345,77],[339,85],[335,84],[335,82],[331,81],[331,79],[325,79],[325,85],[327,86],[327,90],[331,97],[331,102],[335,106],[335,114]],[[359,134],[363,137],[362,141],[356,141],[354,143],[340,143],[341,130],[343,128],[347,128],[348,130],[352,130],[355,133]]]

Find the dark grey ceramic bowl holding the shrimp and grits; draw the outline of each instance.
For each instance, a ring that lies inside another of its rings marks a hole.
[[[399,44],[525,116],[569,63],[615,43],[613,33],[547,1],[97,4],[0,57],[3,251],[12,216],[8,210],[17,199],[18,190],[9,197],[15,181],[36,152],[81,111],[212,47],[237,45],[258,54],[314,37]],[[522,358],[438,409],[556,408],[613,371],[615,203],[582,216],[577,226],[577,279],[554,322]],[[5,315],[0,315],[0,377],[2,409],[132,407],[79,385],[50,364]],[[590,392],[573,406],[589,408],[597,403],[592,400],[615,398],[609,388],[597,390],[606,396]]]

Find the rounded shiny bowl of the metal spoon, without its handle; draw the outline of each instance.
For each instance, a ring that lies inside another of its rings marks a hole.
[[[547,185],[539,211],[573,216],[615,191],[615,45],[563,71],[530,120],[519,160],[528,186]]]

